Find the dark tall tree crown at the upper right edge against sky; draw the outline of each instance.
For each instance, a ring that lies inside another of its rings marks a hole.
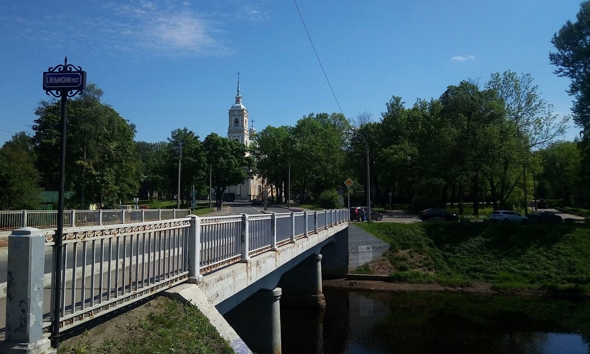
[[[590,127],[590,1],[580,4],[578,21],[567,21],[551,40],[557,50],[549,60],[558,66],[555,74],[569,77],[572,83],[568,93],[573,101],[573,120],[578,126]],[[586,138],[588,139],[588,138]]]

